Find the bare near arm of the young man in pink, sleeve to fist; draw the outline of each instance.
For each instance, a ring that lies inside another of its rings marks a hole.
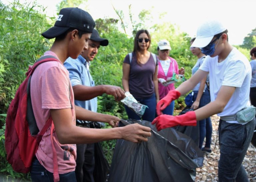
[[[139,143],[147,141],[151,136],[151,130],[148,127],[139,124],[131,124],[125,127],[112,129],[91,129],[77,127],[72,122],[71,109],[51,109],[56,134],[59,142],[66,143],[95,143],[110,139],[125,139]]]

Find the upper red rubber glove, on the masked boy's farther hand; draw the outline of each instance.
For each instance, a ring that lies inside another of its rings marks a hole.
[[[170,90],[168,92],[168,94],[162,98],[156,105],[156,113],[157,115],[161,115],[163,114],[162,111],[168,106],[170,105],[170,103],[173,100],[176,100],[180,97],[180,92],[177,90]]]

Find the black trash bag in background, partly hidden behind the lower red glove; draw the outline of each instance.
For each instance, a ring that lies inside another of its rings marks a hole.
[[[191,106],[186,106],[179,115],[185,114],[189,111],[194,111],[194,109],[190,108]],[[176,126],[173,127],[175,130],[179,131],[180,133],[183,133],[189,137],[191,137],[194,142],[199,146],[199,121],[197,121],[196,126]]]

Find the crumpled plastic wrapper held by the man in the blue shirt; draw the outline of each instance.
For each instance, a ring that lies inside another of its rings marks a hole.
[[[139,117],[142,117],[148,106],[138,103],[138,101],[129,92],[125,92],[125,96],[126,97],[122,99],[121,102],[133,110],[137,115],[139,115]]]

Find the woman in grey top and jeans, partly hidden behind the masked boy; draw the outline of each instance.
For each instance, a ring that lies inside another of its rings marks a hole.
[[[190,44],[192,45],[196,38],[191,39]],[[201,49],[198,47],[190,47],[192,54],[197,56],[197,62],[192,68],[192,75],[196,73],[199,67],[202,65],[206,55],[202,53]],[[191,108],[194,110],[205,106],[206,104],[211,102],[210,91],[207,88],[206,82],[209,82],[209,76],[206,76],[199,82],[192,91],[193,95],[193,104]],[[206,137],[205,146],[202,148],[204,138]],[[212,152],[211,150],[211,137],[212,137],[212,122],[211,118],[208,117],[206,119],[199,121],[199,148],[202,149],[203,152],[209,154]]]

